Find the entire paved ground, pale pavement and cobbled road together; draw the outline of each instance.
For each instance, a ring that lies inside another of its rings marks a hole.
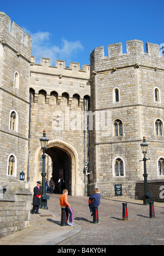
[[[59,198],[50,195],[49,210],[31,215],[30,228],[1,238],[0,245],[164,245],[164,203],[154,203],[155,218],[150,219],[149,206],[142,201],[101,199],[99,224],[92,224],[88,197],[68,196],[73,228],[60,226]],[[122,221],[122,202],[127,202],[128,221]]]

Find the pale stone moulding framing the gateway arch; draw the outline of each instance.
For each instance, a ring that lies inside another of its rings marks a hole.
[[[79,182],[79,172],[78,172],[78,152],[77,150],[69,143],[65,141],[61,141],[60,139],[54,139],[52,141],[49,141],[47,149],[56,147],[58,149],[63,150],[66,152],[69,156],[69,159],[71,159],[72,165],[71,165],[71,173],[72,173],[72,195],[73,196],[81,196],[83,195],[83,189],[81,188],[80,182]],[[35,180],[33,181],[34,184],[36,184],[36,179],[38,177],[38,157],[40,155],[41,149],[40,146],[36,150],[35,154],[35,162],[36,162],[36,168],[35,168]]]

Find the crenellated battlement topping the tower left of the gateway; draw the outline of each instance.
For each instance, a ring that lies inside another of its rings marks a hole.
[[[17,56],[31,60],[32,38],[3,12],[0,12],[0,43],[12,49]]]

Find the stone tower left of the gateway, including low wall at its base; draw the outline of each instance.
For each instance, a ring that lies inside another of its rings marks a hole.
[[[20,173],[27,171],[31,45],[31,37],[0,13],[0,237],[30,219],[31,192]]]

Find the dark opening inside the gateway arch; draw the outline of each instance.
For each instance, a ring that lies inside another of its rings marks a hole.
[[[51,177],[55,182],[54,193],[60,194],[63,189],[67,189],[68,193],[71,193],[71,159],[68,154],[57,147],[48,148],[46,154],[48,154],[52,160]],[[62,178],[62,180],[58,183],[60,178]]]

